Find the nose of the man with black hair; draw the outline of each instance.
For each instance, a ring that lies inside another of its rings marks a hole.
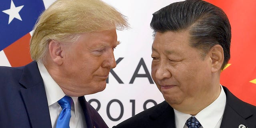
[[[172,74],[170,70],[168,69],[168,66],[161,62],[159,66],[156,68],[156,78],[158,80],[163,80],[164,78],[170,78],[172,77]]]

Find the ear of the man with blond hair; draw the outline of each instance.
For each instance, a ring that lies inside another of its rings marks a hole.
[[[62,47],[60,42],[51,40],[49,43],[49,54],[54,63],[61,65],[63,63]]]

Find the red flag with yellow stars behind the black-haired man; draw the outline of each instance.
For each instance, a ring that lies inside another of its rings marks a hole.
[[[220,75],[220,84],[256,106],[256,1],[206,1],[222,8],[231,24],[231,59]]]

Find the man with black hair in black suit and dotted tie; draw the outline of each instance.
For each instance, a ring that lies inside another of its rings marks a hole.
[[[230,59],[231,27],[203,0],[153,14],[152,78],[165,101],[114,128],[256,128],[256,107],[220,85]]]

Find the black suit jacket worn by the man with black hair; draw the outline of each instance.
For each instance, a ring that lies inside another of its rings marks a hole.
[[[256,128],[256,107],[239,100],[226,87],[223,89],[227,100],[220,128],[238,128],[240,124]],[[164,101],[113,128],[175,128],[174,110]]]

